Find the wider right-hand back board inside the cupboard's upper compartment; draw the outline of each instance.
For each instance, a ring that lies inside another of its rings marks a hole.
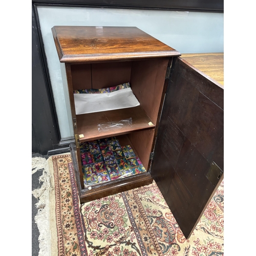
[[[92,64],[92,88],[107,88],[130,82],[131,65],[131,61]]]

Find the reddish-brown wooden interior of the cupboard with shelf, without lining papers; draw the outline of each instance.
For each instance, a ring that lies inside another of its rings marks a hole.
[[[99,63],[73,63],[71,65],[73,90],[101,89],[130,82],[140,102],[128,109],[76,115],[80,142],[115,136],[121,145],[130,144],[146,170],[150,167],[150,154],[154,149],[155,131],[163,100],[165,74],[169,58]],[[132,117],[133,125],[127,129],[99,133],[97,124]],[[149,125],[149,123],[153,125]],[[79,150],[77,150],[79,153]],[[79,157],[78,157],[79,161]]]

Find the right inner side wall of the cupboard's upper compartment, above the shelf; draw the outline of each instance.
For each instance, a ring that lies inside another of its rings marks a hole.
[[[163,94],[168,59],[134,61],[131,87],[148,117],[156,123]]]

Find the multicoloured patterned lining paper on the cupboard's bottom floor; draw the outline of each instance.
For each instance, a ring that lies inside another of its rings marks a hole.
[[[146,172],[127,136],[80,143],[84,187]]]

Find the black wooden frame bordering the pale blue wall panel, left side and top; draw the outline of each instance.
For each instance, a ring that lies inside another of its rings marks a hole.
[[[37,6],[141,9],[162,11],[224,12],[224,0],[32,0],[32,153],[67,152],[73,138],[60,139],[51,80],[42,40]],[[33,76],[33,73],[40,76]],[[42,115],[42,113],[44,115]],[[38,119],[37,116],[42,118]],[[34,152],[37,151],[37,152]]]

